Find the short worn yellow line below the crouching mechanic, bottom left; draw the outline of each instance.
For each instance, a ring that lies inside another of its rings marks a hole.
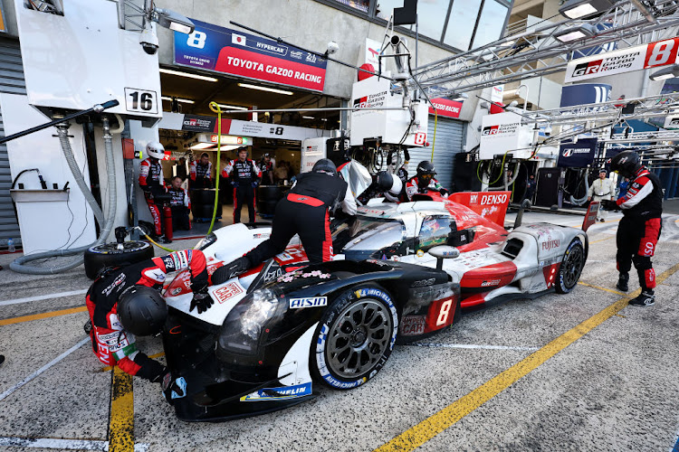
[[[134,452],[134,392],[132,376],[113,370],[110,388],[109,452]]]

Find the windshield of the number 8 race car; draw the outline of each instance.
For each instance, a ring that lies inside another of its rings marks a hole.
[[[336,224],[332,246],[346,259],[384,259],[400,255],[406,237],[406,226],[397,219],[357,216]]]

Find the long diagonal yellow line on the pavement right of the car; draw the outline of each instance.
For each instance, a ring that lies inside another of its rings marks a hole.
[[[670,277],[679,270],[679,264],[663,272],[656,280],[657,283],[662,283],[666,278]],[[632,295],[639,292],[637,289]],[[506,390],[513,383],[519,381],[530,372],[534,371],[542,363],[545,363],[552,356],[559,353],[561,350],[573,344],[580,337],[588,334],[591,330],[601,325],[604,321],[618,311],[627,306],[628,298],[620,298],[617,302],[607,306],[596,315],[592,315],[587,320],[570,329],[564,334],[540,348],[535,353],[531,353],[528,357],[521,360],[521,362],[514,364],[506,371],[496,375],[493,379],[486,381],[475,390],[464,395],[462,398],[455,400],[453,403],[445,407],[445,409],[438,411],[429,418],[423,420],[413,428],[407,429],[396,438],[387,442],[381,447],[375,449],[375,452],[387,451],[410,451],[416,447],[420,447],[436,435],[444,431],[446,428],[453,426],[458,420],[463,419],[466,415],[473,412],[486,401],[493,399],[500,392]]]

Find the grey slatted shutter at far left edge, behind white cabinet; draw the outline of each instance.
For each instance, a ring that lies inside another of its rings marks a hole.
[[[0,38],[0,92],[25,94],[25,87],[19,42]],[[5,137],[1,111],[0,136]],[[7,239],[14,239],[16,244],[21,242],[19,224],[16,222],[12,198],[9,196],[11,185],[12,175],[9,172],[7,146],[0,145],[0,249],[7,246]]]

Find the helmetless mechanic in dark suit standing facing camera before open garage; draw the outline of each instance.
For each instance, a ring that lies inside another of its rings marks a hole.
[[[244,202],[247,202],[250,222],[257,221],[254,215],[254,191],[262,178],[262,172],[252,160],[247,158],[246,147],[238,149],[238,159],[230,161],[222,170],[222,177],[228,177],[230,174],[233,174],[231,184],[234,186],[234,224],[241,222],[241,209]]]

